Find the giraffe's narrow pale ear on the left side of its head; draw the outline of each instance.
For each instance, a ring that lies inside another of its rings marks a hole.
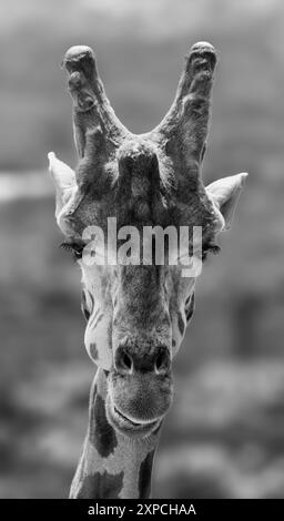
[[[58,218],[77,187],[75,174],[65,163],[58,160],[54,152],[50,152],[48,157],[49,171],[55,186],[55,217]]]

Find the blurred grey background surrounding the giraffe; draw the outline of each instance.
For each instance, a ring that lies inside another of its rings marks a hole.
[[[97,52],[116,114],[156,125],[199,40],[220,52],[203,177],[250,172],[174,364],[160,498],[284,497],[284,3],[0,0],[0,496],[68,494],[94,374],[47,153],[75,163],[64,51]]]

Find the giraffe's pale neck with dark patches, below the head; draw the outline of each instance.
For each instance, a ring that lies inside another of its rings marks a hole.
[[[98,369],[90,394],[89,427],[70,498],[149,498],[159,433],[130,438],[105,416],[106,376]]]

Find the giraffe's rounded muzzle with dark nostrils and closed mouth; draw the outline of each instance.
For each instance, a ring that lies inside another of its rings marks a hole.
[[[114,428],[130,436],[155,430],[172,403],[169,349],[159,346],[139,351],[118,347],[108,381],[106,409]]]

